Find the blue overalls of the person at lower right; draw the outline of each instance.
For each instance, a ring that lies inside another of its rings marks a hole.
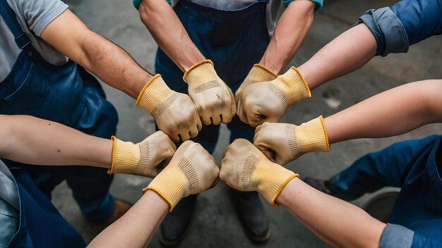
[[[441,139],[406,140],[362,156],[333,176],[330,190],[356,199],[381,187],[401,187],[388,223],[413,230],[412,247],[442,247]]]

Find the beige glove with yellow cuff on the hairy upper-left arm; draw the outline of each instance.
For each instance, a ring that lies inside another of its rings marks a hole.
[[[201,130],[201,120],[195,104],[186,94],[167,87],[160,74],[152,77],[141,90],[136,106],[142,106],[155,118],[158,128],[178,142],[196,137]]]

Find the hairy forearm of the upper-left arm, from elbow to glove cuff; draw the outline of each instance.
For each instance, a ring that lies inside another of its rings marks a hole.
[[[121,47],[90,31],[83,41],[78,63],[107,85],[136,99],[152,75],[141,68]]]

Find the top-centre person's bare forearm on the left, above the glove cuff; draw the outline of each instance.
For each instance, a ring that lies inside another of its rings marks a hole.
[[[142,1],[138,10],[155,42],[183,72],[205,59],[166,1]]]

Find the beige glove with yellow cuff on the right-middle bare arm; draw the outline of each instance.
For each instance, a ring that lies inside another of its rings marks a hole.
[[[330,151],[322,116],[299,126],[264,123],[256,128],[253,143],[265,154],[268,154],[265,151],[273,151],[275,161],[280,165],[311,151]]]

